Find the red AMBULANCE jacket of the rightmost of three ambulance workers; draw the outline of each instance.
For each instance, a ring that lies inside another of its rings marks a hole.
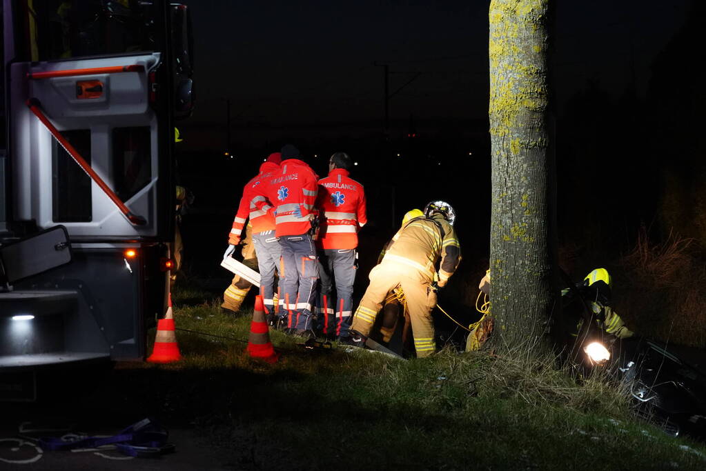
[[[358,229],[368,219],[365,215],[363,185],[348,178],[345,169],[333,169],[318,181],[318,203],[323,214],[316,245],[324,249],[358,247]]]

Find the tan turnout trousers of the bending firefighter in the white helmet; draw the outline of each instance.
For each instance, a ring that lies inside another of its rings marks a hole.
[[[369,278],[370,284],[353,315],[351,329],[368,336],[383,301],[391,290],[399,286],[405,292],[417,357],[431,355],[436,350],[431,319],[431,310],[436,306],[436,292],[431,289],[429,277],[405,265],[383,260],[373,267]]]

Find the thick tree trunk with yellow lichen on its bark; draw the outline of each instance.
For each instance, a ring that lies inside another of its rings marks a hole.
[[[490,6],[491,345],[534,345],[558,300],[549,150],[549,0]]]

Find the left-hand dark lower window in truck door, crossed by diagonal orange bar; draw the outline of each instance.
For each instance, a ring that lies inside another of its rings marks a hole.
[[[90,165],[90,130],[61,132]],[[90,222],[91,180],[71,155],[53,140],[52,213],[54,222]]]

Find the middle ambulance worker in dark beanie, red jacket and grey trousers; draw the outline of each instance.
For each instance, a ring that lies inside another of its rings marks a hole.
[[[275,236],[280,241],[280,314],[287,315],[287,329],[313,336],[312,309],[316,298],[318,265],[313,234],[317,212],[318,176],[299,158],[299,149],[282,147],[282,170],[265,185],[266,201],[258,209],[275,215]],[[271,202],[271,203],[270,203]],[[270,204],[274,208],[270,207]]]

